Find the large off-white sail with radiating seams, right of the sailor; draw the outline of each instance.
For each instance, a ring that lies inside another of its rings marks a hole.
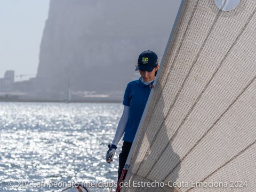
[[[256,191],[255,12],[182,1],[121,191]]]

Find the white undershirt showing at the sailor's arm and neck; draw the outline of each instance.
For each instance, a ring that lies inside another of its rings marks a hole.
[[[145,85],[149,85],[151,84],[153,81],[150,81],[150,82],[143,82],[142,78],[141,79],[141,82],[144,83]],[[129,106],[125,106],[124,105],[124,110],[123,110],[123,114],[120,118],[120,121],[118,123],[118,126],[117,126],[117,129],[116,129],[116,134],[115,134],[115,137],[112,141],[111,144],[117,146],[119,141],[121,140],[123,134],[124,134],[124,130],[125,130],[125,126],[126,126],[126,123],[128,121],[128,118],[129,118],[129,110],[130,110],[130,107]]]

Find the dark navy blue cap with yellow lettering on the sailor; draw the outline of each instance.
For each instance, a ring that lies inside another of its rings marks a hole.
[[[157,55],[153,51],[143,51],[140,53],[138,65],[135,70],[151,72],[157,66]]]

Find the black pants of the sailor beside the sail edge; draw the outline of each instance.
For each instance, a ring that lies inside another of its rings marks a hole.
[[[122,172],[123,172],[123,169],[124,169],[124,165],[125,165],[125,162],[126,162],[126,159],[127,159],[128,155],[129,155],[131,147],[132,147],[132,142],[124,141],[123,146],[122,146],[122,151],[119,154],[119,167],[118,167],[118,180],[117,180],[117,182],[121,178],[121,175],[122,175]],[[125,176],[126,176],[126,173],[124,174],[123,180],[124,180]]]

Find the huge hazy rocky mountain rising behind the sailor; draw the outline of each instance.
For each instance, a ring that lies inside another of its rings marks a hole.
[[[48,91],[67,90],[68,82],[73,90],[123,91],[140,52],[162,56],[178,4],[51,0],[37,78]]]

